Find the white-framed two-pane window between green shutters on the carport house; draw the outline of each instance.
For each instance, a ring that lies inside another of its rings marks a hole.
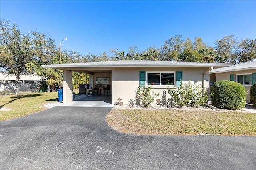
[[[147,84],[153,85],[174,85],[174,73],[147,73]]]

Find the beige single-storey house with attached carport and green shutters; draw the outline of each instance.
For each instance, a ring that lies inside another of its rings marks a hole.
[[[148,86],[154,83],[154,92],[159,92],[160,101],[168,100],[167,89],[180,86],[180,80],[184,83],[191,80],[193,83],[209,87],[209,71],[214,68],[228,67],[230,64],[222,63],[193,63],[171,61],[104,61],[91,63],[70,63],[44,65],[44,68],[63,70],[63,103],[72,102],[72,72],[93,75],[93,84],[97,80],[108,81],[112,104],[120,97],[124,104],[135,100],[139,86]],[[102,79],[99,79],[102,78]],[[106,79],[108,78],[108,79]],[[166,96],[165,96],[166,95]]]

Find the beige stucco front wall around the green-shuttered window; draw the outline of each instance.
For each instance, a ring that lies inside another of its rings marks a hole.
[[[112,70],[112,103],[116,103],[116,99],[119,97],[122,98],[122,102],[124,104],[129,104],[130,100],[135,100],[136,91],[139,87],[139,72],[140,71],[156,71],[156,72],[174,72],[174,83],[176,83],[176,71],[182,71],[182,80],[183,83],[187,83],[191,80],[192,83],[202,85],[203,74],[208,71],[208,67],[201,68],[191,68],[191,67],[137,67],[137,68],[114,68]],[[204,76],[207,80],[205,81],[205,87],[209,87],[208,73]],[[153,85],[154,92],[160,93],[160,96],[157,99],[162,100],[163,93],[165,91],[166,100],[170,98],[168,94],[168,87],[160,87],[157,85]],[[172,88],[176,88],[175,86]],[[156,101],[154,102],[156,103]]]

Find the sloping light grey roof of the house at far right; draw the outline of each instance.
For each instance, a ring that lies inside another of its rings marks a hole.
[[[229,67],[222,67],[218,69],[213,69],[209,73],[224,73],[224,72],[230,72],[230,71],[242,71],[242,70],[250,70],[250,69],[256,69],[256,59],[253,59],[251,61],[248,61],[246,63],[231,65]],[[255,70],[256,71],[256,70]]]

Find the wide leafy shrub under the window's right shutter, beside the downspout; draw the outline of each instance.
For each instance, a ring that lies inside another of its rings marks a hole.
[[[208,99],[206,93],[202,95],[202,86],[190,81],[188,83],[181,82],[181,86],[176,89],[169,88],[168,93],[172,96],[174,103],[180,107],[184,105],[198,107],[204,105]]]

